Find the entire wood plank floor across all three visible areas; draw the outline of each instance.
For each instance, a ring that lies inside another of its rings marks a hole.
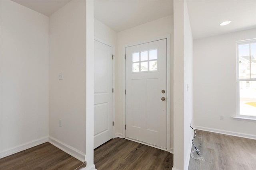
[[[190,158],[189,170],[256,170],[256,140],[197,130],[194,144],[206,162]],[[116,138],[94,150],[94,164],[98,170],[171,170],[173,154]],[[0,170],[80,170],[83,167],[85,164],[50,143],[0,159]]]

